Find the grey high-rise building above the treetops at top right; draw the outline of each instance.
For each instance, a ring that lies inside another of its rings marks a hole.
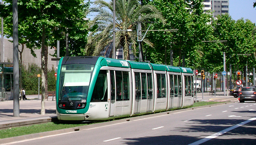
[[[203,6],[204,12],[212,11],[214,18],[229,13],[229,0],[204,0]]]

